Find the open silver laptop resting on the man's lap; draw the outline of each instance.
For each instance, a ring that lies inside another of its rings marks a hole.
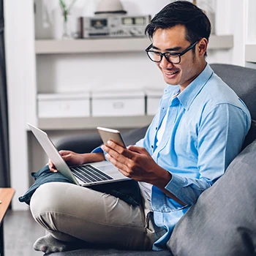
[[[87,187],[129,179],[108,161],[92,162],[85,165],[69,167],[64,159],[62,159],[47,133],[29,123],[27,124],[45,150],[45,153],[56,166],[56,169],[75,184]]]

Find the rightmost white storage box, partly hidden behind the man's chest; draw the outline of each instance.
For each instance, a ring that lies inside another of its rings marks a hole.
[[[163,94],[163,90],[146,89],[146,114],[148,116],[155,115],[159,106],[160,99]]]

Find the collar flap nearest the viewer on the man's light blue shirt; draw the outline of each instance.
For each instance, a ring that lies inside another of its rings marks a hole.
[[[198,75],[197,78],[195,78],[195,80],[193,80],[189,86],[187,86],[187,88],[181,92],[181,94],[178,94],[177,98],[186,110],[189,110],[189,107],[194,101],[195,97],[197,97],[197,94],[200,92],[203,86],[206,85],[206,82],[209,80],[209,78],[211,78],[213,73],[214,71],[211,69],[210,65],[206,64],[205,69],[203,69],[200,75]]]

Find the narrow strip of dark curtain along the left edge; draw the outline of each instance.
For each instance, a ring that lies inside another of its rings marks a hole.
[[[10,187],[7,81],[4,56],[4,3],[0,0],[0,187]]]

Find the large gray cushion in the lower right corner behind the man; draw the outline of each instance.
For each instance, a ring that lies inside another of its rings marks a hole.
[[[173,255],[255,255],[256,140],[231,162],[173,230]]]

